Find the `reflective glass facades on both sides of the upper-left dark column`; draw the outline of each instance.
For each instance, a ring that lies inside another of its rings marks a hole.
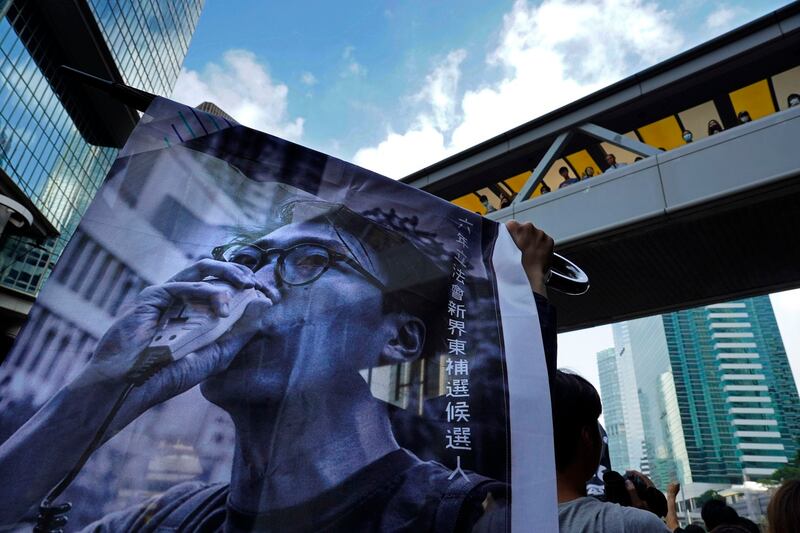
[[[43,66],[41,60],[37,64],[30,48],[37,45],[26,45],[20,38],[20,29],[33,27],[33,22],[3,4],[0,169],[60,236],[43,243],[6,236],[0,241],[0,285],[35,295],[117,151],[82,137],[48,79],[47,71],[56,65]],[[87,2],[126,83],[158,94],[172,90],[202,4],[202,0]]]

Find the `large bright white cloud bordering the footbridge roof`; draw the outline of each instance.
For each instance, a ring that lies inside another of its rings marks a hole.
[[[500,81],[457,92],[463,51],[426,78],[421,110],[354,161],[399,178],[676,53],[670,16],[644,0],[517,0],[486,59]],[[459,55],[461,54],[461,55]],[[460,97],[459,97],[460,96]]]

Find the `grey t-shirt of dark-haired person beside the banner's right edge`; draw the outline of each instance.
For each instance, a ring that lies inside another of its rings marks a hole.
[[[591,497],[558,504],[558,528],[561,533],[671,533],[666,524],[649,511]]]

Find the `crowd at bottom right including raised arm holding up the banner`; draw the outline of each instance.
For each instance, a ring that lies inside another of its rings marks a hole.
[[[509,222],[508,228],[522,250],[541,323],[550,378],[560,531],[800,533],[800,480],[785,481],[775,492],[764,527],[718,498],[702,506],[704,525],[682,527],[678,483],[671,483],[665,495],[641,472],[611,469],[614,465],[607,461],[605,432],[599,423],[603,406],[597,389],[577,374],[556,369],[555,312],[540,281],[541,271],[549,266],[553,241],[530,224]]]

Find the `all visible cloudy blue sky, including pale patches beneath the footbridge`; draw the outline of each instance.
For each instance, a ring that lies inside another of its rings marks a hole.
[[[786,3],[206,0],[172,96],[399,178]],[[800,291],[773,304],[798,379]],[[610,327],[559,342],[597,384]]]

